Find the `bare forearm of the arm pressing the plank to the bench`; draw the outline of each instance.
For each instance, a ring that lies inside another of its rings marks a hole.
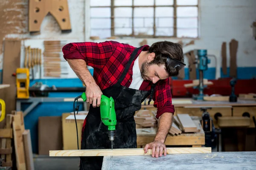
[[[157,134],[155,141],[165,142],[166,136],[171,128],[173,113],[163,113],[158,122]]]

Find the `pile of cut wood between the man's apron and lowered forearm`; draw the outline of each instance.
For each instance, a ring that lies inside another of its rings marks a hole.
[[[149,110],[140,110],[135,114],[134,120],[136,125],[141,127],[156,127],[157,120],[154,117],[154,114]]]

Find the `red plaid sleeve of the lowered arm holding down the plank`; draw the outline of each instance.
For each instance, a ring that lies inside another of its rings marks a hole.
[[[155,86],[155,93],[153,95],[154,107],[157,108],[158,119],[163,113],[174,113],[175,109],[172,105],[172,93],[169,86],[169,79],[160,80]]]

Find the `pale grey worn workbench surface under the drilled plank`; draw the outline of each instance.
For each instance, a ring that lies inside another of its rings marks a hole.
[[[256,152],[105,156],[102,170],[255,170]]]

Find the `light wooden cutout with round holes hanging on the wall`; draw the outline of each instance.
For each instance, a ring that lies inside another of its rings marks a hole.
[[[29,32],[40,33],[41,23],[48,13],[56,19],[62,33],[71,32],[67,0],[29,0]]]

